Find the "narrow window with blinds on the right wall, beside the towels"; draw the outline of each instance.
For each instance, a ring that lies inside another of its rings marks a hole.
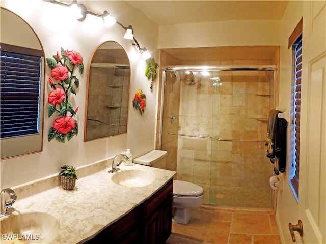
[[[295,167],[293,178],[290,180],[293,193],[299,196],[299,153],[300,153],[300,105],[301,105],[301,62],[302,62],[302,35],[294,42],[294,84],[293,84],[293,162]]]

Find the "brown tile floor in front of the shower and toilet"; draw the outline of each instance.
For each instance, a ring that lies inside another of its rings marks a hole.
[[[172,224],[166,244],[281,244],[272,210],[202,205],[191,213],[187,225]]]

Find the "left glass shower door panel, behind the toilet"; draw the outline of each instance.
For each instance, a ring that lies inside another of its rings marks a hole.
[[[177,179],[204,189],[209,204],[211,172],[212,84],[199,72],[167,71],[162,150]]]

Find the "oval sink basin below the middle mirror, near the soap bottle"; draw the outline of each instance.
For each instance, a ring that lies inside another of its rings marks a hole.
[[[125,187],[144,187],[155,180],[155,174],[146,170],[130,169],[116,172],[111,179],[115,184]]]

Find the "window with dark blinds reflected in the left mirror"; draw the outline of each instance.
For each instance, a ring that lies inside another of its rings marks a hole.
[[[42,54],[1,44],[0,65],[0,137],[39,133]]]

